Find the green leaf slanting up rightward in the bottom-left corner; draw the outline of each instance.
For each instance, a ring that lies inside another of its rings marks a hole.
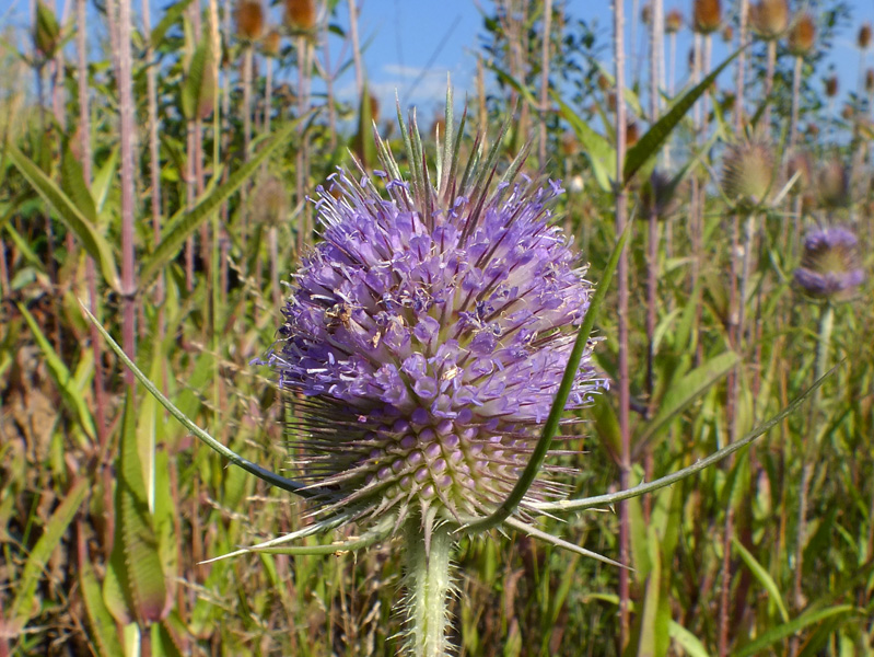
[[[81,479],[70,492],[67,493],[63,502],[48,519],[46,526],[43,528],[43,535],[34,545],[33,551],[24,564],[24,569],[21,577],[15,583],[15,598],[12,600],[12,607],[9,608],[7,619],[8,630],[18,627],[19,631],[24,627],[25,623],[30,620],[33,613],[34,606],[38,597],[36,595],[36,585],[43,577],[46,564],[48,563],[51,553],[60,543],[61,538],[67,532],[70,522],[73,521],[79,507],[85,499],[89,491],[89,481]],[[11,625],[11,627],[10,627]]]

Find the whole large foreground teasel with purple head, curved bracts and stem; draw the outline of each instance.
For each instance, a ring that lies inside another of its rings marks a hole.
[[[642,137],[622,181],[644,153],[657,152],[665,130],[704,89],[689,92]],[[552,223],[560,183],[522,173],[527,148],[499,166],[508,125],[491,147],[479,135],[463,161],[466,113],[455,126],[452,106],[448,93],[434,170],[415,114],[405,123],[398,111],[408,175],[375,135],[382,170],[340,170],[331,188],[319,189],[323,241],[302,260],[278,339],[257,361],[273,372],[284,400],[296,479],[240,457],[197,426],[82,306],[118,358],[185,428],[231,463],[307,500],[310,525],[225,557],[331,554],[392,542],[406,563],[399,597],[405,654],[427,657],[452,652],[452,557],[462,538],[520,531],[625,570],[539,529],[536,519],[676,483],[749,445],[811,394],[666,477],[569,498],[558,477],[573,471],[546,459],[563,453],[552,446],[563,442],[562,428],[578,425],[564,412],[584,410],[606,391],[592,359],[599,342],[592,331],[629,231],[619,233],[595,288]],[[289,545],[352,523],[359,531],[346,540]]]

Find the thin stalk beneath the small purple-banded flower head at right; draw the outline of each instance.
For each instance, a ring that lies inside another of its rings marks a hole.
[[[831,330],[835,325],[835,307],[830,302],[826,302],[819,312],[819,335],[816,345],[816,366],[814,368],[814,377],[820,378],[828,368],[828,351],[831,346]],[[802,437],[801,454],[804,460],[801,470],[801,483],[799,484],[799,528],[795,534],[795,580],[792,587],[792,599],[796,610],[804,608],[805,601],[802,593],[802,570],[804,569],[804,538],[807,533],[807,495],[811,483],[811,475],[813,474],[814,463],[818,458],[820,429],[823,414],[820,413],[820,405],[823,402],[823,393],[817,388],[811,395],[811,419],[808,423],[809,430]],[[814,445],[811,446],[809,438],[814,436]],[[799,639],[792,637],[789,644],[790,657],[795,657],[799,652]]]

